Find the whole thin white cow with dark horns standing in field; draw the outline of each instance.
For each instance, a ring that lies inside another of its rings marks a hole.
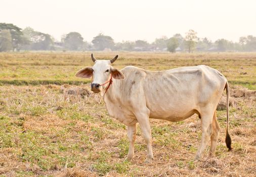
[[[226,146],[229,135],[229,84],[223,74],[205,65],[149,71],[135,66],[118,70],[111,66],[117,59],[97,60],[93,67],[79,70],[75,76],[92,77],[91,90],[103,96],[109,115],[127,126],[130,142],[127,159],[134,156],[136,124],[139,123],[147,145],[147,163],[153,159],[149,118],[182,121],[198,114],[202,137],[194,160],[198,161],[210,139],[209,156],[214,156],[220,131],[217,105],[227,93]]]

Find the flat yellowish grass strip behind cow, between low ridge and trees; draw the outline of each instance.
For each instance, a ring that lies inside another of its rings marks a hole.
[[[221,71],[232,84],[256,90],[255,53],[138,53],[118,52],[117,68],[134,65],[149,70],[181,66],[208,65]],[[99,59],[111,59],[115,52],[96,52]],[[88,82],[76,78],[76,71],[92,66],[90,53],[0,53],[0,85],[4,84],[77,84]],[[253,77],[254,76],[254,77]]]

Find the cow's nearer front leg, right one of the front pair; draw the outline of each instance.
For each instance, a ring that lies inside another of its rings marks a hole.
[[[152,151],[152,136],[151,136],[151,129],[149,124],[149,114],[139,113],[136,115],[136,117],[141,126],[142,134],[147,144],[147,158],[145,162],[151,163],[154,157],[153,157],[153,151]]]

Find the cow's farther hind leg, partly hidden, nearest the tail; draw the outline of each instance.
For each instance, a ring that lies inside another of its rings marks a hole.
[[[217,147],[217,142],[218,142],[218,137],[219,137],[219,132],[220,132],[220,126],[217,121],[217,111],[214,112],[214,117],[212,118],[212,134],[210,136],[210,152],[209,156],[214,156],[216,147]]]

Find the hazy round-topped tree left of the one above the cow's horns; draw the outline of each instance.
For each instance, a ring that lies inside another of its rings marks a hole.
[[[62,41],[71,51],[80,50],[83,46],[83,38],[78,32],[70,32],[62,37]]]

